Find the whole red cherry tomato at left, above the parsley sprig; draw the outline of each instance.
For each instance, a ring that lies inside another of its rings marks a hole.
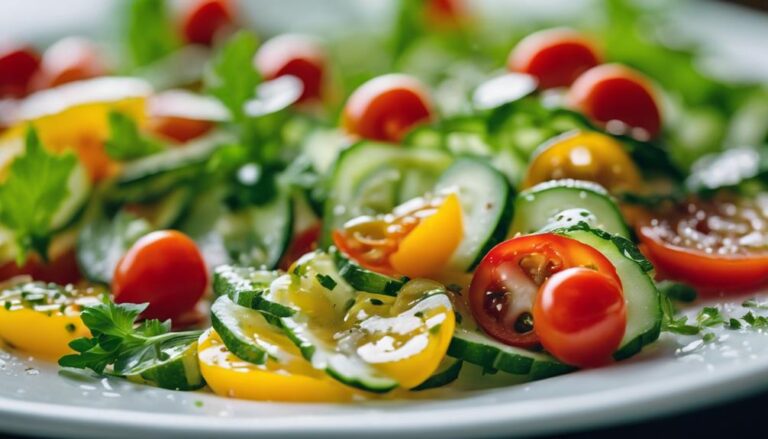
[[[170,319],[192,310],[208,272],[197,245],[183,233],[152,232],[120,259],[112,280],[117,303],[149,303],[144,317]]]

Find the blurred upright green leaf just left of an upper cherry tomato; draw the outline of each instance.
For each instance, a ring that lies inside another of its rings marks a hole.
[[[245,103],[256,95],[261,77],[253,67],[258,38],[240,31],[232,36],[208,66],[204,82],[209,94],[232,113],[235,121],[245,119]]]

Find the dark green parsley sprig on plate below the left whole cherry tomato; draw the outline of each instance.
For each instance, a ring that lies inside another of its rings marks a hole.
[[[73,340],[69,346],[77,354],[61,357],[59,365],[129,376],[168,360],[170,353],[195,343],[200,336],[200,331],[170,332],[170,320],[145,320],[136,325],[146,308],[147,304],[109,300],[86,307],[81,318],[93,338]]]

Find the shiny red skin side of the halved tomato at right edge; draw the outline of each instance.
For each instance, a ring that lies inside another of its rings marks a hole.
[[[656,238],[653,228],[639,225],[640,250],[657,269],[657,277],[696,287],[705,296],[742,293],[768,285],[768,255],[716,256],[678,247]]]

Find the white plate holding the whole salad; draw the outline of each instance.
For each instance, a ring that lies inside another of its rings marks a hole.
[[[96,32],[94,29],[99,26],[105,27],[101,19],[109,10],[102,0],[47,0],[46,7],[41,7],[41,3],[4,5],[0,14],[2,32],[40,35],[40,23],[45,24],[48,37],[73,29]],[[248,6],[254,17],[261,17],[263,28],[276,30],[293,23],[291,30],[296,30],[316,25],[311,18],[314,14],[303,14],[302,24],[296,25],[291,21],[292,11],[306,11],[313,6],[317,10],[321,2],[292,3],[303,6],[273,3],[283,8],[282,17],[275,7],[259,14],[264,2],[251,2]],[[488,7],[499,7],[501,3],[484,2]],[[513,5],[523,3],[568,16],[574,4],[585,2],[556,2],[565,8],[553,7],[553,0],[518,0]],[[322,2],[325,17],[319,20],[326,27],[329,17],[359,21],[350,12],[359,3],[337,0],[333,4],[336,7]],[[374,10],[382,8],[381,1],[366,4],[373,5]],[[505,8],[509,6],[510,2],[504,4]],[[517,12],[519,19],[521,14]],[[760,43],[768,41],[764,17],[708,3],[698,4],[680,16],[685,18],[681,28],[692,34],[697,29],[707,29],[706,34],[699,32],[701,35],[697,36],[719,43],[713,43],[710,51],[727,59],[724,64],[749,66],[750,70],[742,69],[745,76],[768,77],[768,66],[756,64],[756,60],[768,60],[767,49]],[[736,316],[744,313],[738,303],[740,300],[732,304]],[[440,399],[356,405],[254,403],[203,392],[171,392],[60,371],[54,364],[0,350],[0,429],[98,438],[285,438],[308,434],[334,438],[405,438],[428,434],[449,438],[557,433],[690,410],[768,387],[766,334],[724,329],[718,334],[716,342],[706,345],[697,342],[696,337],[665,335],[640,356],[621,364],[535,383],[465,391]]]

